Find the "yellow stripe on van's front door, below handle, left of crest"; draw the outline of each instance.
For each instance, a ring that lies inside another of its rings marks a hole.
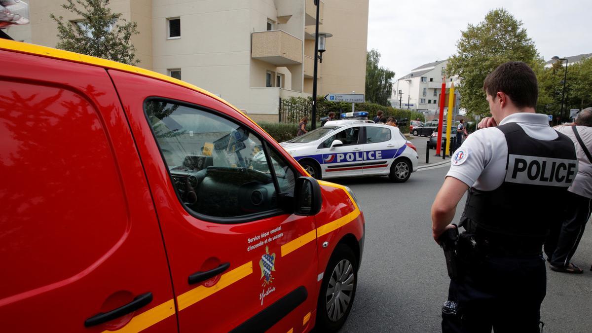
[[[213,287],[205,287],[205,286],[198,286],[194,289],[189,290],[183,294],[180,294],[177,297],[177,304],[179,306],[179,311],[188,308],[189,306],[194,305],[200,300],[204,299],[205,297],[211,296],[214,293],[219,292],[220,290],[230,286],[231,284],[239,281],[240,279],[249,276],[253,273],[253,262],[249,261],[246,264],[234,268],[234,270],[229,271],[228,273],[222,274],[220,277],[220,281],[216,283]]]

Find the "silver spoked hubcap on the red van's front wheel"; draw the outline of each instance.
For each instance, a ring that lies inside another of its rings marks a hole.
[[[339,321],[348,310],[354,280],[352,263],[347,259],[338,262],[331,274],[326,294],[327,316],[331,321]]]

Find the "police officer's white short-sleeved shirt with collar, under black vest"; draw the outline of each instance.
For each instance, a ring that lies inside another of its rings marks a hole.
[[[538,140],[554,140],[557,132],[549,127],[546,114],[514,113],[500,125],[517,123],[526,134]],[[480,129],[469,135],[456,150],[446,177],[454,177],[469,187],[493,191],[506,178],[508,146],[506,136],[496,127]]]

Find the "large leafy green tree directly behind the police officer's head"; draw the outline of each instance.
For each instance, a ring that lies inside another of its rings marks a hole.
[[[469,114],[485,116],[489,107],[485,101],[483,81],[488,73],[504,62],[522,61],[536,67],[542,61],[522,21],[506,9],[493,9],[477,25],[469,24],[456,42],[457,52],[446,66],[448,75],[461,78],[461,107]]]

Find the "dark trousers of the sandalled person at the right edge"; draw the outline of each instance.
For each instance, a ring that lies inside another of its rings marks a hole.
[[[567,192],[566,196],[565,218],[551,223],[549,236],[545,240],[545,254],[555,267],[564,267],[570,263],[592,212],[590,198],[571,192]]]

